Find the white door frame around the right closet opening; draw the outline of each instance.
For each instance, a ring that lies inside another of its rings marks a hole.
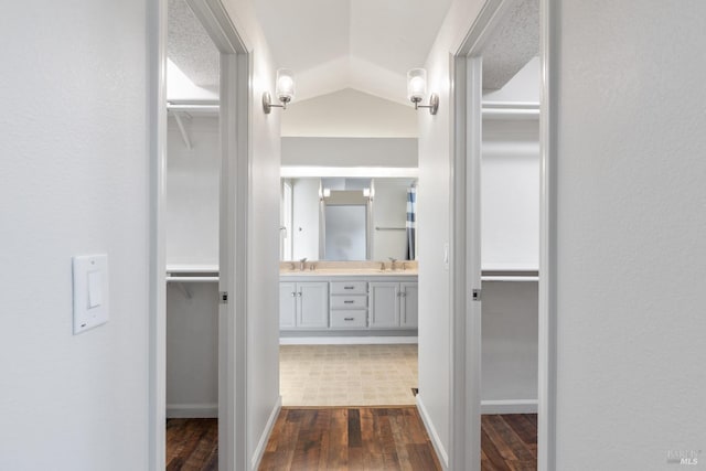
[[[541,220],[537,469],[556,468],[556,44],[557,0],[541,2]],[[488,0],[451,57],[453,158],[451,169],[451,388],[452,469],[481,463],[480,162],[482,57],[478,53],[510,2]],[[474,86],[479,85],[479,86]],[[471,204],[468,204],[470,197]],[[461,465],[458,465],[461,464]]]

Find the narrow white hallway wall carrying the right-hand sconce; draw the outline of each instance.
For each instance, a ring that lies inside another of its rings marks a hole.
[[[429,52],[427,77],[430,92],[439,94],[439,113],[419,113],[419,395],[426,421],[446,461],[449,452],[449,373],[451,311],[450,277],[443,246],[450,240],[451,77],[449,60],[461,45],[483,1],[456,0]],[[422,223],[424,222],[424,223]],[[451,254],[452,256],[452,254]],[[435,437],[436,435],[436,437]],[[445,465],[447,463],[443,463]]]

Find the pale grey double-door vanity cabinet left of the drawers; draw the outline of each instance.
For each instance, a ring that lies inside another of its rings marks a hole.
[[[328,329],[329,283],[327,281],[280,281],[279,328]]]

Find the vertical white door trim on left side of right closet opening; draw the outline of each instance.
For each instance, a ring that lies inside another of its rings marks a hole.
[[[457,55],[453,76],[450,469],[480,469],[481,287],[480,162],[482,60]],[[470,86],[478,85],[477,87]]]

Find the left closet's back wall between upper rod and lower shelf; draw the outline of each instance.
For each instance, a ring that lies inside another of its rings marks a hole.
[[[218,265],[221,151],[217,117],[182,118],[192,148],[169,119],[167,265]]]

